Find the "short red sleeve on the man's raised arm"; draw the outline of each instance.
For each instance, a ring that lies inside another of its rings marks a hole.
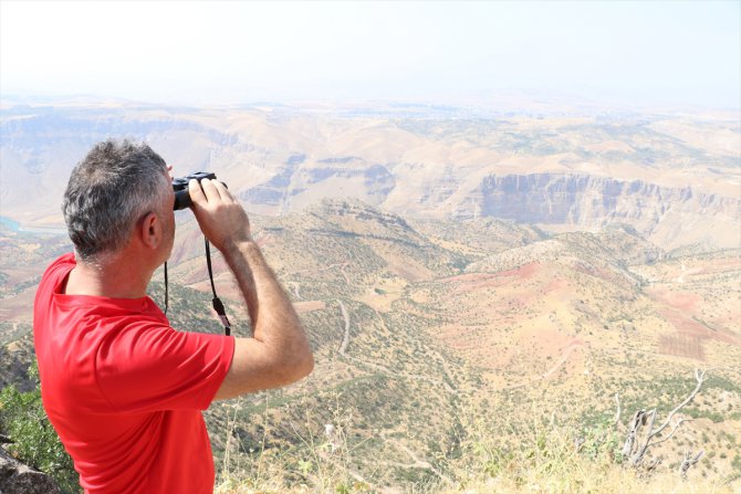
[[[223,381],[234,338],[126,325],[101,341],[95,378],[115,412],[205,410]]]

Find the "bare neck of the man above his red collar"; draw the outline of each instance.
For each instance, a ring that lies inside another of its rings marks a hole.
[[[64,293],[109,298],[143,297],[153,271],[131,260],[137,260],[137,256],[116,255],[95,264],[77,259],[77,265],[67,277]]]

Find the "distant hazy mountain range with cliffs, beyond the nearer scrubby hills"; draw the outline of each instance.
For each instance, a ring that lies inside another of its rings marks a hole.
[[[7,105],[0,117],[0,207],[25,225],[61,224],[74,164],[94,143],[129,136],[176,174],[216,171],[261,214],[352,197],[409,219],[492,218],[552,232],[619,222],[665,250],[741,245],[733,115],[76,102]]]

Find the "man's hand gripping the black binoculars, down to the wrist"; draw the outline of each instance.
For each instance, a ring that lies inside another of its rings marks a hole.
[[[192,212],[206,238],[221,252],[239,242],[250,241],[250,220],[244,208],[218,180],[191,179],[188,191]]]

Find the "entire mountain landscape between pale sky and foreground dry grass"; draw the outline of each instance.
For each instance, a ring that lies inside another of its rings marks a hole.
[[[315,353],[301,383],[206,412],[217,470],[401,490],[453,482],[483,434],[509,444],[483,452],[493,475],[531,439],[543,453],[535,424],[604,437],[616,393],[623,422],[666,417],[702,368],[677,416],[693,421],[650,459],[669,472],[702,449],[697,475],[738,479],[740,134],[727,114],[3,104],[0,383],[33,385],[31,305],[71,250],[70,170],[128,136],[228,183]],[[219,333],[202,235],[190,211],[176,220],[168,317]],[[213,271],[249,336],[218,252]],[[164,305],[161,272],[150,294]]]

